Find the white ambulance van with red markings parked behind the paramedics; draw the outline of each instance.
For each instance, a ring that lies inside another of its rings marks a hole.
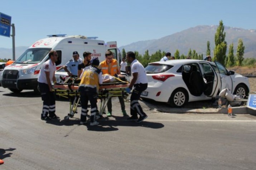
[[[49,59],[50,50],[58,53],[58,61],[55,62],[57,69],[73,59],[73,51],[77,51],[82,59],[83,52],[89,51],[92,57],[98,57],[100,61],[103,61],[105,52],[110,50],[114,53],[114,59],[120,64],[121,54],[116,41],[105,43],[97,38],[81,35],[67,36],[66,34],[48,35],[47,38],[38,40],[30,46],[13,64],[4,68],[1,85],[14,93],[19,93],[24,89],[39,93],[37,82],[39,71],[43,63]]]

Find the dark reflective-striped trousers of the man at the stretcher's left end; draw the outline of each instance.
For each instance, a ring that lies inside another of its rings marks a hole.
[[[52,117],[55,114],[55,95],[54,92],[50,92],[48,84],[38,82],[42,101],[43,110],[41,117],[48,116]]]

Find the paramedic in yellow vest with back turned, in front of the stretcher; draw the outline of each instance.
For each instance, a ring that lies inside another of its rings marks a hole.
[[[91,59],[91,66],[88,66],[87,69],[84,69],[80,79],[79,84],[80,99],[81,99],[81,119],[80,124],[86,123],[88,101],[91,103],[91,117],[90,125],[99,124],[96,121],[96,112],[97,112],[97,96],[99,91],[99,84],[102,84],[102,72],[98,69],[100,61],[98,58]]]

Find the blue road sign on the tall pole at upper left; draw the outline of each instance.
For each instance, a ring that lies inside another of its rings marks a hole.
[[[11,33],[11,16],[0,12],[0,35],[10,37]]]

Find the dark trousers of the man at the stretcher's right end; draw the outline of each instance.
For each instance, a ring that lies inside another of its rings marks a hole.
[[[145,91],[148,88],[148,83],[145,84],[134,84],[134,89],[132,90],[131,93],[131,105],[130,105],[130,113],[132,116],[137,116],[139,114],[140,116],[145,115],[143,112],[140,103],[139,103],[139,98],[141,95],[141,92]]]

